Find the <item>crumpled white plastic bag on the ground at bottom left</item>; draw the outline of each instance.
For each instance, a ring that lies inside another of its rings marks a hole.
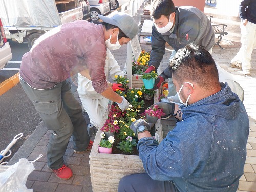
[[[33,162],[20,159],[0,173],[0,192],[33,192],[26,186],[28,175],[35,169]]]

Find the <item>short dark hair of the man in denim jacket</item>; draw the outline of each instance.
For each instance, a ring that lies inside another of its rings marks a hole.
[[[206,49],[196,44],[179,49],[170,61],[169,70],[180,85],[191,80],[209,90],[216,83],[220,84],[214,59]]]

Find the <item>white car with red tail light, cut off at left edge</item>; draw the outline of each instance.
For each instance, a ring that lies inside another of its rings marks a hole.
[[[7,42],[3,24],[0,19],[0,69],[3,69],[6,63],[12,59],[12,52],[9,42]]]

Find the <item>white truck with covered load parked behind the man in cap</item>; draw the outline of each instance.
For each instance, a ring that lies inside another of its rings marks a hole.
[[[79,0],[1,0],[0,18],[6,38],[28,42],[29,49],[47,31],[82,20]]]

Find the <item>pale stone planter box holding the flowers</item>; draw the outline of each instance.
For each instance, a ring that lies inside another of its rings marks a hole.
[[[154,95],[154,103],[158,102],[159,91]],[[159,142],[163,138],[161,119],[155,125]],[[143,164],[136,155],[103,154],[98,152],[100,142],[100,129],[98,129],[90,153],[90,173],[94,192],[117,191],[119,180],[130,174],[144,173]]]

